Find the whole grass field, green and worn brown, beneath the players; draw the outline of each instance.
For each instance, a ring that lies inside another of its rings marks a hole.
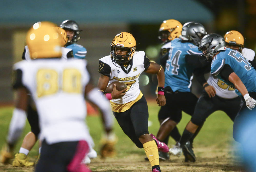
[[[159,123],[157,114],[159,107],[155,101],[148,101],[149,121],[152,125],[148,131],[156,135]],[[0,108],[0,147],[5,142],[5,136],[8,130],[9,121],[12,117],[13,107]],[[182,121],[178,124],[180,133],[183,132],[190,116],[183,114]],[[99,151],[99,140],[102,133],[101,120],[98,116],[88,116],[87,123],[90,133],[94,139],[94,149]],[[170,160],[160,162],[162,171],[241,171],[239,160],[232,150],[232,121],[222,111],[212,114],[205,122],[200,133],[194,141],[194,151],[197,157],[195,163],[184,163],[184,157],[171,157]],[[92,171],[151,171],[149,162],[145,161],[145,152],[137,148],[132,141],[123,133],[118,123],[115,121],[115,133],[119,138],[116,145],[117,155],[115,157],[101,159],[99,157],[92,159],[89,167]],[[18,152],[22,139],[30,131],[29,124],[26,124],[22,138],[16,145],[15,152]],[[169,146],[175,144],[173,139],[169,140]],[[35,161],[38,155],[38,145],[31,150],[29,157]],[[32,167],[12,167],[12,165],[3,165],[0,163],[0,171],[33,171]]]

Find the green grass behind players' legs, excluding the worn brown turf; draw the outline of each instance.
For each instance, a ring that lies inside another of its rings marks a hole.
[[[157,118],[159,107],[155,101],[148,101],[149,107],[149,120],[152,121],[152,126],[148,127],[148,131],[153,134],[157,134],[159,128],[159,122]],[[0,108],[0,147],[5,143],[6,134],[8,131],[8,125],[12,117],[13,107]],[[183,118],[178,124],[178,129],[182,134],[187,122],[190,120],[190,116],[183,113]],[[94,139],[94,149],[99,151],[99,140],[101,138],[102,124],[99,116],[88,116],[87,124],[90,128],[91,136]],[[233,141],[232,138],[232,124],[233,122],[229,117],[222,111],[217,111],[207,118],[204,126],[194,141],[194,147],[222,147],[226,148]],[[18,152],[19,147],[22,144],[22,140],[26,133],[30,131],[28,122],[26,123],[25,130],[22,137],[18,141],[15,152]],[[133,142],[123,133],[115,120],[114,131],[119,138],[117,143],[118,157],[124,157],[130,153],[136,153],[144,155],[143,149],[138,149]],[[169,145],[175,144],[173,139],[169,140]],[[38,155],[38,145],[36,144],[30,152],[30,157],[35,159]]]

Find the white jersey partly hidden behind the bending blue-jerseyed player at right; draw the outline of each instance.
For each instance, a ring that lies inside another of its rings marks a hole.
[[[243,48],[242,54],[246,59],[251,61],[253,61],[255,56],[255,52],[248,48]],[[215,88],[216,95],[221,98],[233,99],[238,96],[233,88],[231,88],[230,86],[225,84],[223,81],[221,81],[220,79],[212,75],[210,75],[210,77],[208,78],[207,83],[209,83],[211,86]]]

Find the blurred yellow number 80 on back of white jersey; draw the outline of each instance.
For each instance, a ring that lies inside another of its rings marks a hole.
[[[59,89],[67,93],[81,93],[82,91],[81,73],[73,68],[63,70],[61,75],[52,69],[40,69],[36,75],[36,82],[38,98],[55,94]],[[62,87],[59,83],[62,83]]]

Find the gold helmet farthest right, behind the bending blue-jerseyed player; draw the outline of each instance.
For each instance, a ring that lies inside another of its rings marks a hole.
[[[244,46],[244,38],[240,32],[236,30],[230,30],[224,35],[224,39],[227,47],[238,47],[238,51],[242,52]]]

